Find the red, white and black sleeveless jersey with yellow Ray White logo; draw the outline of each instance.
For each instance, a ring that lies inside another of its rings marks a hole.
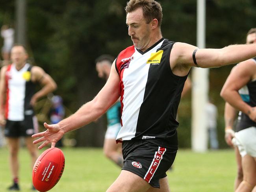
[[[148,139],[177,148],[176,114],[187,76],[173,74],[170,53],[174,42],[160,39],[145,52],[130,46],[117,57],[122,128],[117,140]]]

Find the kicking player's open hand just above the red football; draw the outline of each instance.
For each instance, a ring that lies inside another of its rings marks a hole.
[[[33,144],[44,141],[43,144],[38,147],[38,149],[42,149],[50,142],[52,142],[51,147],[55,147],[56,142],[65,134],[65,131],[60,128],[59,124],[48,125],[47,123],[44,123],[44,126],[47,129],[46,131],[32,135],[32,138],[41,137],[35,140]]]

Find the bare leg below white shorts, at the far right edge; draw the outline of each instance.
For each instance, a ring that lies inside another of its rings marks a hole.
[[[242,157],[243,181],[236,192],[251,192],[256,185],[256,161],[250,155]]]

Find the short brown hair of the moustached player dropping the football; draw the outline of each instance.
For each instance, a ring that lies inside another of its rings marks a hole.
[[[158,27],[161,26],[163,12],[159,2],[155,0],[130,0],[125,7],[126,14],[135,11],[139,7],[142,7],[143,16],[147,23],[156,18],[158,20]]]

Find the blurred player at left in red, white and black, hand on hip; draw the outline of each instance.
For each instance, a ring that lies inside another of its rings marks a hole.
[[[56,89],[54,80],[39,66],[26,63],[28,54],[23,45],[11,50],[12,64],[3,66],[0,75],[0,124],[5,125],[4,134],[10,153],[13,185],[9,190],[19,190],[19,138],[25,142],[32,158],[32,167],[37,159],[37,149],[31,135],[38,133],[37,118],[33,111],[35,102]],[[35,92],[35,84],[42,89]]]

